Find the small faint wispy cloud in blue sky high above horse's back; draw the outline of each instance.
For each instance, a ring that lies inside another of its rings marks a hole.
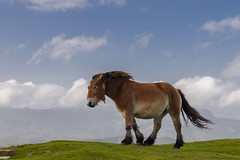
[[[150,40],[153,37],[154,37],[154,35],[151,32],[143,32],[141,34],[136,34],[134,36],[134,42],[129,50],[132,51],[136,48],[147,48]]]

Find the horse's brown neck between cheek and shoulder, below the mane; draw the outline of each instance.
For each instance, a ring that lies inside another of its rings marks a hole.
[[[125,81],[126,80],[108,81],[105,84],[105,94],[114,101],[117,98],[118,92]]]

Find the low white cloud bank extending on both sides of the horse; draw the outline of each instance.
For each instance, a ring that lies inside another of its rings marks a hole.
[[[85,79],[73,82],[70,88],[57,84],[19,83],[14,79],[0,82],[0,107],[52,109],[86,105]],[[231,82],[211,76],[183,78],[174,86],[180,88],[197,108],[228,108],[240,105],[240,88]]]

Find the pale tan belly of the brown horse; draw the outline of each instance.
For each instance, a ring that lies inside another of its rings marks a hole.
[[[152,119],[159,117],[167,108],[168,102],[138,104],[134,108],[134,117],[140,119]]]

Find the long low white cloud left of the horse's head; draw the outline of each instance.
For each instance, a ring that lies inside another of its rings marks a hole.
[[[0,107],[51,109],[86,104],[87,81],[79,79],[68,89],[57,84],[0,82]]]

